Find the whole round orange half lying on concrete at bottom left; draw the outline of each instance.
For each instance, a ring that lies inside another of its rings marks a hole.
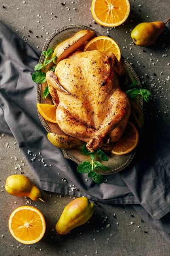
[[[42,213],[31,206],[21,206],[14,210],[8,223],[11,235],[22,244],[34,244],[45,233],[45,218]]]

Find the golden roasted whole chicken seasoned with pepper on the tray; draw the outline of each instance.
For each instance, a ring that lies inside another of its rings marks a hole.
[[[65,134],[87,143],[89,151],[107,147],[122,136],[130,102],[120,89],[126,75],[113,53],[75,51],[48,71],[48,88]]]

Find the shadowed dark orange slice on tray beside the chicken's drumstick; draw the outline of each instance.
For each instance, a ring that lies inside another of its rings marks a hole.
[[[111,152],[116,155],[127,154],[136,147],[138,141],[139,134],[135,125],[133,125],[131,122],[128,122],[122,137],[116,143]]]

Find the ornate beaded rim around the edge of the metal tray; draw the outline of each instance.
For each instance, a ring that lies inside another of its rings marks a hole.
[[[45,42],[45,44],[44,44],[44,46],[43,46],[43,48],[42,48],[42,51],[46,51],[46,50],[48,49],[48,45],[50,44],[51,40],[52,40],[52,39],[54,38],[54,36],[57,35],[59,32],[62,32],[63,30],[66,30],[66,29],[74,29],[74,28],[75,28],[75,29],[77,29],[77,28],[78,28],[78,29],[79,29],[79,28],[80,28],[80,29],[88,29],[88,30],[94,31],[97,36],[100,36],[100,34],[99,34],[98,32],[96,32],[94,29],[92,29],[92,28],[90,28],[90,27],[88,27],[88,26],[84,26],[84,25],[69,25],[69,26],[64,26],[64,27],[62,27],[62,28],[57,29],[56,31],[54,31],[54,32],[48,37],[48,39],[46,40],[46,42]],[[41,54],[39,63],[42,63],[43,60],[44,60],[44,55]],[[124,58],[123,56],[121,57],[121,60],[122,60],[122,62],[125,64],[125,66],[127,67],[127,69],[130,71],[130,73],[133,75],[134,79],[135,79],[135,80],[138,80],[138,83],[137,83],[138,87],[142,87],[142,85],[141,85],[141,83],[140,83],[140,80],[139,80],[139,78],[138,78],[136,72],[133,70],[133,68],[130,66],[130,64],[125,60],[125,58]],[[37,103],[41,103],[41,84],[39,84],[39,83],[37,83]],[[142,109],[142,107],[143,107],[143,98],[142,98],[142,96],[139,96],[139,108]],[[45,128],[45,130],[46,130],[47,132],[52,132],[51,129],[48,127],[47,123],[45,122],[45,119],[44,119],[44,118],[41,116],[41,114],[39,113],[39,111],[38,111],[38,115],[39,115],[40,121],[41,121],[43,127]],[[144,131],[143,128],[141,128],[141,129],[139,130],[139,137],[142,136],[143,131]],[[78,165],[81,163],[81,162],[80,162],[79,160],[77,160],[75,157],[70,156],[64,148],[60,148],[60,149],[61,149],[61,151],[62,151],[62,153],[63,153],[63,155],[64,155],[65,158],[74,161],[74,162],[77,163]],[[99,174],[102,174],[102,175],[109,175],[109,174],[114,174],[114,173],[116,173],[116,172],[122,171],[122,170],[125,169],[125,167],[127,167],[128,164],[132,161],[132,159],[133,159],[133,157],[134,157],[134,155],[135,155],[135,153],[136,153],[136,149],[137,149],[137,148],[133,149],[132,153],[130,154],[130,157],[129,157],[129,158],[127,159],[127,161],[126,161],[122,166],[120,166],[119,168],[116,168],[116,169],[110,170],[110,171],[99,171],[99,172],[96,172],[96,173],[99,173]]]

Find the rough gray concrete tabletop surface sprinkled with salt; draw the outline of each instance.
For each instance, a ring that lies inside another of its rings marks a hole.
[[[143,86],[155,95],[152,103],[144,105],[145,122],[149,123],[152,119],[157,118],[158,122],[166,123],[168,114],[166,106],[169,103],[166,95],[169,93],[170,85],[170,81],[167,80],[170,76],[168,33],[165,32],[155,45],[146,48],[146,51],[143,52],[142,47],[132,44],[130,29],[133,29],[139,22],[167,20],[170,4],[166,0],[130,0],[131,11],[124,26],[107,30],[99,24],[94,24],[90,11],[91,0],[65,0],[63,1],[65,2],[64,6],[61,5],[61,2],[60,0],[1,0],[0,20],[28,44],[40,49],[42,49],[46,38],[55,29],[70,24],[87,26],[91,24],[102,35],[110,35],[119,43],[122,55],[136,70]],[[139,7],[139,5],[141,6]],[[69,17],[71,17],[71,21]],[[146,73],[149,79],[146,78]],[[157,76],[153,76],[153,73],[156,73]],[[161,86],[161,89],[156,91],[154,86],[156,88]],[[161,105],[161,113],[159,113],[159,108],[156,108],[159,105]],[[148,108],[154,109],[154,111],[148,112]],[[73,198],[66,195],[60,197],[61,195],[45,191],[42,191],[44,204],[42,202],[30,202],[32,206],[37,205],[37,208],[45,216],[47,223],[45,236],[40,242],[30,246],[15,241],[8,230],[8,218],[14,209],[26,205],[26,199],[8,195],[4,188],[5,181],[9,175],[15,172],[17,174],[24,172],[24,175],[28,176],[34,183],[35,180],[17,144],[15,144],[14,137],[7,134],[0,134],[0,137],[0,256],[54,256],[60,254],[94,256],[96,252],[97,255],[101,256],[170,255],[170,245],[146,221],[142,222],[141,217],[130,206],[109,206],[100,203],[99,207],[96,206],[95,214],[89,224],[86,223],[77,227],[66,236],[57,235],[55,224],[65,205]],[[18,164],[22,164],[22,170],[18,169]],[[113,218],[114,213],[116,218]],[[134,217],[131,216],[132,214]],[[131,221],[134,224],[130,224]],[[106,224],[111,226],[106,228]]]

